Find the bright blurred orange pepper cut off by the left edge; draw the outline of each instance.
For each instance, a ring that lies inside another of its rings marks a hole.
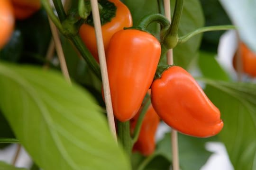
[[[0,0],[0,49],[9,41],[15,18],[9,0]]]

